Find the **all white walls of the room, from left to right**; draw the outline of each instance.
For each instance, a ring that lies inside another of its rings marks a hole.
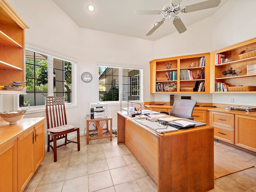
[[[174,32],[156,41],[142,40],[95,30],[79,28],[52,0],[7,0],[21,18],[30,26],[26,30],[26,43],[38,50],[46,49],[62,57],[77,60],[77,104],[68,108],[68,120],[85,128],[85,116],[89,114],[90,102],[98,99],[97,62],[140,64],[144,66],[144,101],[169,101],[169,94],[150,94],[150,64],[154,58],[181,56],[211,52],[231,44],[255,37],[255,0],[229,0],[212,17],[192,26],[184,34]],[[92,82],[86,84],[80,79],[84,71],[93,74]],[[175,99],[181,95],[175,94]],[[228,103],[231,94],[191,94],[200,102]],[[255,104],[253,95],[235,94],[234,104]],[[0,96],[1,108],[12,106],[12,96]],[[8,102],[6,102],[8,101]],[[114,118],[120,106],[110,105],[109,114]],[[25,117],[45,116],[40,113],[26,114]]]

